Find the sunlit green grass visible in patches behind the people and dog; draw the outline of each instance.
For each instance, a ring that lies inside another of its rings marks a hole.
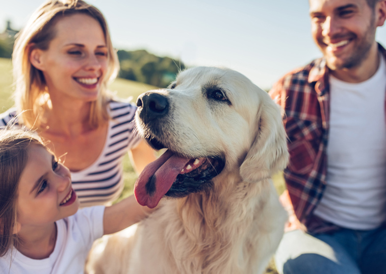
[[[111,84],[110,90],[113,91],[120,98],[129,98],[132,97],[132,101],[136,102],[136,99],[139,94],[154,89],[156,87],[149,86],[143,83],[133,82],[125,79],[117,79],[114,83]],[[12,99],[12,63],[9,59],[0,58],[0,110],[1,112],[6,111],[13,106]],[[125,156],[124,166],[123,166],[123,179],[125,186],[121,196],[117,201],[122,200],[122,198],[127,197],[133,193],[134,183],[137,180],[138,175],[134,171],[128,155]],[[273,182],[276,187],[277,192],[280,194],[284,191],[284,179],[282,178],[281,173],[273,176]],[[270,262],[269,267],[267,268],[266,274],[277,274],[273,261]]]

